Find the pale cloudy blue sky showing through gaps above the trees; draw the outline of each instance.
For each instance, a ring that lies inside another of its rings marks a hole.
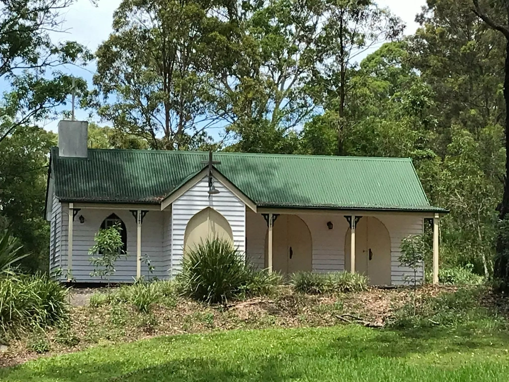
[[[74,40],[95,51],[99,44],[106,40],[111,33],[113,12],[117,9],[121,0],[99,0],[98,3],[98,6],[95,7],[90,0],[77,0],[65,13],[63,29],[66,32],[53,34],[54,41]],[[401,17],[407,24],[406,33],[411,34],[415,32],[418,26],[414,22],[415,15],[426,4],[426,0],[379,0],[378,4],[382,7],[388,7],[392,13]],[[91,83],[95,66],[92,64],[84,69],[70,66],[61,70],[85,78]],[[67,110],[70,109],[70,102],[66,108]],[[76,119],[86,120],[88,118],[89,115],[86,111],[76,111]],[[43,125],[46,129],[55,131],[58,119],[45,121]],[[107,124],[107,121],[100,124]]]

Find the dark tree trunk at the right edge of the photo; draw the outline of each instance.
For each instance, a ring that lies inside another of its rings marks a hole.
[[[509,231],[503,224],[507,213],[509,212],[509,187],[507,184],[509,174],[509,40],[505,45],[505,77],[504,77],[504,100],[505,100],[505,179],[504,194],[502,204],[500,205],[499,219],[502,222],[497,237],[497,256],[493,272],[495,277],[504,281],[506,287],[509,287],[509,275],[507,272],[507,263],[509,256]]]

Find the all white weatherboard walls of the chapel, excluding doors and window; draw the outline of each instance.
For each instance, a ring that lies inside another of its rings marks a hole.
[[[259,269],[265,267],[265,240],[267,223],[261,214],[247,209],[242,201],[226,187],[215,182],[220,193],[210,196],[207,193],[208,180],[202,179],[178,198],[168,210],[149,211],[142,225],[142,256],[148,255],[154,271],[149,274],[148,267],[142,263],[142,275],[168,279],[181,269],[184,233],[187,223],[194,214],[206,207],[221,213],[232,228],[235,245],[246,252],[246,260]],[[136,222],[126,210],[81,209],[76,215],[73,231],[73,269],[72,278],[76,282],[98,282],[92,278],[89,250],[94,245],[94,235],[102,221],[111,213],[117,214],[126,225],[128,257],[116,264],[112,282],[132,282],[136,276]],[[85,222],[79,223],[79,215]],[[50,271],[62,269],[61,281],[67,280],[68,259],[68,203],[60,203],[53,198],[50,228]],[[342,214],[302,214],[299,217],[307,225],[312,237],[313,271],[331,272],[345,269],[345,238],[348,223]],[[423,232],[423,219],[418,215],[379,215],[377,218],[389,231],[391,241],[391,282],[395,285],[408,284],[413,279],[413,270],[401,266],[401,240],[409,235]],[[327,228],[327,222],[333,229]],[[276,223],[277,224],[277,221]],[[247,246],[246,246],[247,245]],[[417,279],[422,280],[424,266],[420,266]],[[105,281],[105,280],[103,280]]]

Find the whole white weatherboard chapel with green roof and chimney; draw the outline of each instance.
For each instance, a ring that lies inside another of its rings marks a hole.
[[[171,279],[187,248],[221,236],[260,269],[345,270],[398,285],[414,277],[398,261],[401,241],[428,222],[438,282],[447,211],[429,204],[410,159],[98,150],[87,148],[87,129],[60,122],[51,151],[50,271],[62,282],[105,282],[90,276],[89,250],[100,228],[119,223],[128,256],[112,282]]]

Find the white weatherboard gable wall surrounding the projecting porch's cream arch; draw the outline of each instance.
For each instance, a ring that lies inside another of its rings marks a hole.
[[[241,253],[245,251],[246,207],[218,180],[214,181],[219,194],[209,195],[208,177],[204,177],[172,205],[172,276],[182,269],[184,253],[184,234],[187,223],[196,213],[211,207],[228,221],[232,228],[234,245]]]

